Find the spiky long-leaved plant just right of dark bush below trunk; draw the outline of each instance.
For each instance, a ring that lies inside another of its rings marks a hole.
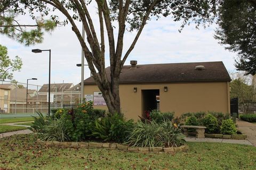
[[[134,147],[161,147],[163,146],[161,132],[162,126],[155,120],[145,123],[138,121],[125,143]]]

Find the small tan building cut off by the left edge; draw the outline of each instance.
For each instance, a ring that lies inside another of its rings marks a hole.
[[[0,113],[10,113],[10,90],[0,84]]]

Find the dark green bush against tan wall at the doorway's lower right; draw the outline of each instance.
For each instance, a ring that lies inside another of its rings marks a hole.
[[[164,120],[172,121],[174,112],[161,113],[160,111],[153,110],[149,114],[151,120],[155,120],[157,123],[161,123]]]

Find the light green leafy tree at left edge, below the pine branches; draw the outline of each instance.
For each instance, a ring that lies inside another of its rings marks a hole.
[[[7,48],[0,45],[0,80],[12,79],[14,71],[19,71],[22,66],[20,57],[15,56],[14,60],[11,60],[7,55]]]

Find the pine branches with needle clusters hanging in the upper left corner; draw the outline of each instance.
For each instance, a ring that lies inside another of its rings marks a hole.
[[[26,46],[42,43],[43,32],[52,31],[57,23],[36,17],[34,24],[21,23],[17,18],[23,14],[23,9],[15,5],[15,0],[0,0],[0,33]]]

